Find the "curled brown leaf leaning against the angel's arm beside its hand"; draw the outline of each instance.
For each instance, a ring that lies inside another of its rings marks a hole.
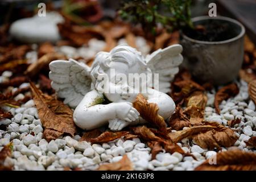
[[[143,119],[154,125],[160,131],[166,132],[166,122],[164,118],[158,114],[159,107],[157,104],[148,103],[142,94],[138,94],[133,102],[133,106],[139,111]]]

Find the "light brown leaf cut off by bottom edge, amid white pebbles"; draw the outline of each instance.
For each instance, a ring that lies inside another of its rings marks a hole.
[[[98,171],[133,171],[133,163],[131,163],[127,155],[123,155],[123,158],[118,162],[111,163],[111,164],[102,164],[97,170]]]

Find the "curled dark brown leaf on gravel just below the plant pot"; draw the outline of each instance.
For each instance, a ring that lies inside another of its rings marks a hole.
[[[227,100],[230,97],[236,96],[239,93],[239,88],[237,84],[229,84],[222,87],[218,92],[215,94],[214,98],[214,107],[216,113],[220,114],[220,108],[218,107],[223,100]]]

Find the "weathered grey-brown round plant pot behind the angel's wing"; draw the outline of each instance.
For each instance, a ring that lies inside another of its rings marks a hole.
[[[214,85],[227,84],[233,81],[241,68],[243,61],[243,37],[245,28],[237,20],[217,16],[198,16],[192,19],[196,25],[209,21],[225,23],[232,28],[233,38],[206,42],[189,38],[183,33],[183,67],[187,68],[193,76],[201,81],[210,81]]]

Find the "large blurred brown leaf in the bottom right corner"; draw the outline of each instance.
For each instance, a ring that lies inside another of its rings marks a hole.
[[[196,171],[255,171],[256,154],[241,150],[228,150],[220,152],[214,158],[216,164],[212,164],[214,157],[206,160],[198,166]]]

